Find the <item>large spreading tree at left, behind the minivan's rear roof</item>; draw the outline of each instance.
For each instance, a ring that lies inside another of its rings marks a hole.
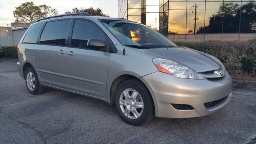
[[[50,6],[46,6],[46,4],[35,6],[33,2],[22,3],[15,9],[16,10],[13,11],[13,16],[16,18],[15,22],[31,22],[37,20],[38,18],[44,18],[58,14],[56,9],[52,9]]]

